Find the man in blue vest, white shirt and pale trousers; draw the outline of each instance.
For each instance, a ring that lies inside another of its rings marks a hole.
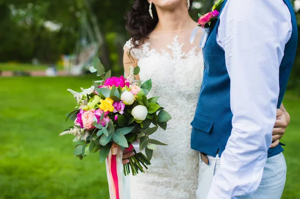
[[[283,149],[269,147],[295,58],[294,10],[290,0],[224,0],[219,11],[191,123],[202,160],[197,199],[280,199]]]

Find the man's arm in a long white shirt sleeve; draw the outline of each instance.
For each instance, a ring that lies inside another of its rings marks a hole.
[[[230,77],[232,131],[207,199],[239,199],[256,191],[272,141],[279,65],[290,38],[283,0],[228,0],[217,41]]]

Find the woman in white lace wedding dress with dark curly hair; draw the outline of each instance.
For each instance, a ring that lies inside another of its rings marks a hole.
[[[168,146],[157,146],[145,174],[130,177],[130,199],[195,199],[199,169],[198,152],[190,149],[190,122],[200,92],[203,57],[189,36],[197,23],[188,9],[192,0],[135,0],[127,13],[126,29],[131,39],[124,46],[124,70],[139,66],[140,79],[152,79],[149,93],[161,96],[158,103],[172,116],[166,131],[152,135]],[[274,128],[273,144],[282,137],[289,115],[281,117]],[[213,110],[211,110],[213,111]],[[279,111],[279,110],[278,110]],[[283,116],[285,116],[283,114]],[[123,163],[133,152],[124,154]]]

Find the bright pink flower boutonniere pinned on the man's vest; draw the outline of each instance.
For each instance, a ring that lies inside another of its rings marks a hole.
[[[217,3],[215,3],[212,7],[211,12],[208,12],[206,14],[198,14],[198,26],[202,28],[209,28],[210,23],[216,19],[218,19],[220,8],[223,4],[224,0],[219,0]]]

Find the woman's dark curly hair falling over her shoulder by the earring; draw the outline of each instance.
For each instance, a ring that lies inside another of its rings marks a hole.
[[[193,0],[190,0],[190,7]],[[158,16],[155,5],[152,4],[153,19],[149,14],[149,2],[147,0],[135,0],[132,7],[128,10],[125,18],[127,20],[126,30],[131,36],[132,47],[128,51],[139,47],[144,42],[147,35],[155,28],[158,22]]]

